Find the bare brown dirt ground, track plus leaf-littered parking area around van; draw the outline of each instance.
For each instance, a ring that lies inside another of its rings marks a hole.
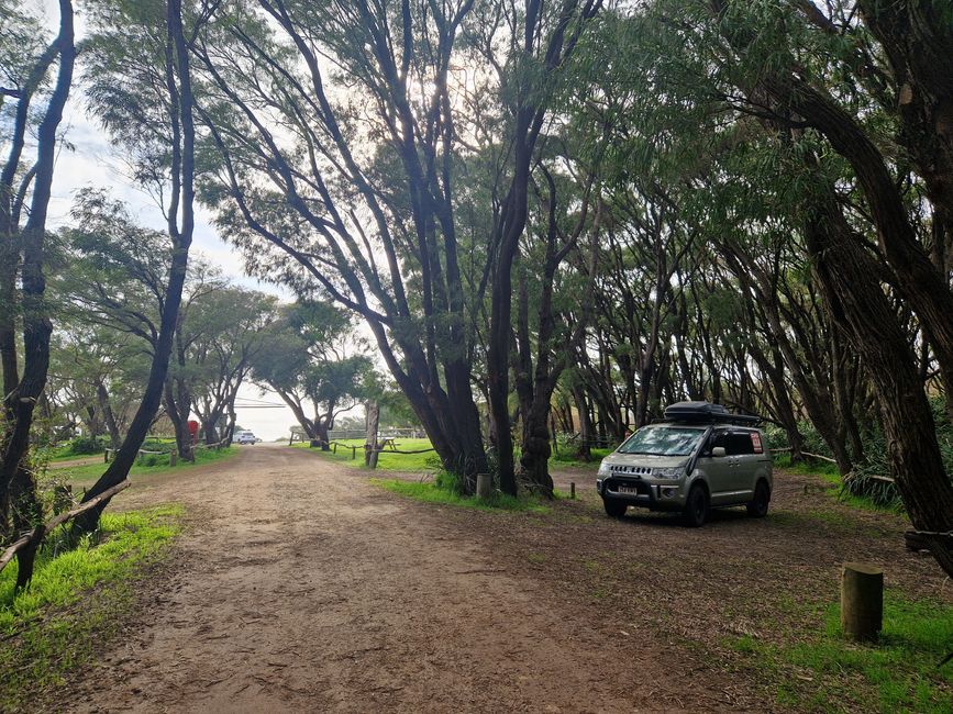
[[[778,479],[773,517],[725,513],[699,531],[605,518],[591,475],[558,475],[569,480],[580,500],[550,514],[485,513],[257,445],[138,483],[114,507],[188,506],[175,565],[55,709],[767,711],[771,684],[706,656],[706,642],[752,631],[805,589],[835,593],[843,560],[889,562],[907,591],[942,587],[904,551],[899,518],[805,528],[799,514],[842,506],[800,477]]]

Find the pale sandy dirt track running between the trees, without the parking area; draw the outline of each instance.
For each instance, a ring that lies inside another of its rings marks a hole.
[[[78,674],[71,711],[724,707],[649,631],[612,636],[442,509],[307,451],[243,449],[115,507],[168,501],[190,512],[175,572]]]

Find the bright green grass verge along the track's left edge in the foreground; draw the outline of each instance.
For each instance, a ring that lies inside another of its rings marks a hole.
[[[26,707],[63,683],[118,632],[134,603],[133,583],[167,555],[182,514],[180,505],[106,513],[100,532],[76,549],[54,557],[45,547],[15,598],[15,562],[0,572],[0,711]]]

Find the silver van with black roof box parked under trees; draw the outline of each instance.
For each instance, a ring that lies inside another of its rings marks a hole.
[[[696,527],[711,507],[745,505],[753,516],[767,514],[772,460],[757,416],[708,402],[679,402],[665,416],[602,459],[596,490],[606,513],[620,517],[630,505],[680,511]]]

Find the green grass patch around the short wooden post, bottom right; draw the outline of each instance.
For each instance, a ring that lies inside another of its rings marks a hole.
[[[823,625],[780,642],[750,636],[730,646],[782,683],[779,704],[809,711],[953,711],[953,606],[911,601],[887,590],[884,628],[876,644],[841,636],[840,606],[819,607]]]

